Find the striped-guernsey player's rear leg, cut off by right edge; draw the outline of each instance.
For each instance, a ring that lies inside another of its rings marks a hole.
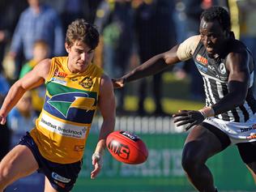
[[[256,142],[237,144],[241,159],[250,170],[256,184]]]

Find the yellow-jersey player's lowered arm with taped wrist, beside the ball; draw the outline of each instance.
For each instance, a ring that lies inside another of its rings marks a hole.
[[[113,94],[113,84],[111,83],[111,79],[108,76],[103,75],[100,82],[100,98],[99,98],[99,109],[100,113],[103,117],[103,122],[100,128],[99,140],[96,145],[96,149],[94,154],[96,154],[96,158],[92,156],[92,164],[94,165],[94,170],[91,173],[91,178],[95,178],[98,173],[100,173],[101,164],[100,159],[102,160],[102,156],[106,147],[106,138],[107,136],[113,132],[115,126],[115,97]]]

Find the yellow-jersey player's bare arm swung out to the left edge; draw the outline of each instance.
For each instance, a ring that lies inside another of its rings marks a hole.
[[[38,63],[33,70],[28,72],[22,79],[16,81],[10,88],[6,99],[0,109],[0,122],[4,124],[6,122],[7,113],[18,103],[24,92],[40,86],[45,82],[45,79],[49,73],[50,59],[45,59]]]

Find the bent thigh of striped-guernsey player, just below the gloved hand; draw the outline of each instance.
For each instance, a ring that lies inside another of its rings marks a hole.
[[[205,162],[209,157],[223,151],[230,141],[222,131],[208,124],[195,126],[188,134],[183,156],[190,156]]]

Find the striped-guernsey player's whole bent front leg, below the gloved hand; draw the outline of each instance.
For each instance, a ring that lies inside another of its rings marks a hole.
[[[210,124],[203,123],[190,130],[183,149],[182,166],[198,191],[215,192],[213,177],[206,161],[229,144],[228,135]]]

